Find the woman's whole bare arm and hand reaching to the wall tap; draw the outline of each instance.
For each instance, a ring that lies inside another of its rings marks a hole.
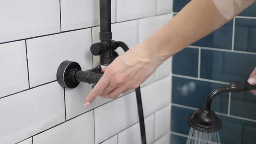
[[[165,26],[143,43],[118,56],[102,69],[104,75],[85,99],[116,98],[137,88],[161,63],[227,23],[254,0],[191,0]]]

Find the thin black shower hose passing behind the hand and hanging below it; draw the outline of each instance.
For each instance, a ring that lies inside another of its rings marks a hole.
[[[125,52],[129,50],[128,46],[124,42],[118,41],[116,43]],[[135,89],[135,93],[136,93],[136,99],[137,99],[137,105],[138,105],[138,115],[139,115],[139,122],[140,122],[140,131],[141,131],[141,144],[147,144],[140,86]]]

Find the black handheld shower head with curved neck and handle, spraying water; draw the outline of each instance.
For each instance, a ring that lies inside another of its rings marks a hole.
[[[247,81],[231,83],[230,85],[217,88],[208,95],[202,109],[198,109],[187,117],[187,124],[197,131],[219,131],[222,128],[222,122],[215,112],[210,110],[213,98],[223,92],[243,92],[253,89],[256,89],[256,85],[250,85]]]

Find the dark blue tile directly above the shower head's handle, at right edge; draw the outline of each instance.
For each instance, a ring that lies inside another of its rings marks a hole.
[[[201,49],[200,77],[222,82],[247,80],[256,66],[256,55]]]

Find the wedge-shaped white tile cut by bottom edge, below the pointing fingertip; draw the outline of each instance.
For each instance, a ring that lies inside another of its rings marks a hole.
[[[33,137],[33,144],[94,144],[93,111]]]

